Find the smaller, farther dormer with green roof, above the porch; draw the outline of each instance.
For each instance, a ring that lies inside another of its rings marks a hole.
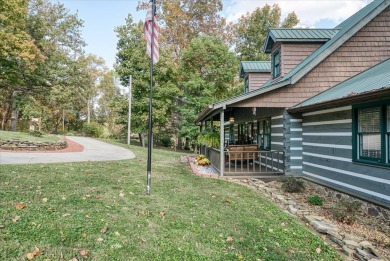
[[[271,79],[271,63],[268,61],[242,61],[240,78],[244,79],[244,93],[260,88]]]

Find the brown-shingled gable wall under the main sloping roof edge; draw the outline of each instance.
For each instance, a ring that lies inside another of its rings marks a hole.
[[[390,57],[390,7],[377,15],[295,84],[281,86],[234,106],[291,107]],[[285,77],[286,78],[286,77]],[[271,88],[270,85],[268,88]],[[267,90],[264,86],[261,88]],[[261,90],[260,89],[260,90]]]

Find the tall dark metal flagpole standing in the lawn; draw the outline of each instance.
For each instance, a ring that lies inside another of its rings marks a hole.
[[[149,133],[148,133],[148,163],[146,169],[146,194],[150,195],[151,190],[151,182],[152,182],[152,144],[153,144],[153,49],[154,49],[154,16],[156,11],[156,3],[155,0],[151,0],[152,2],[152,40],[150,43],[151,48],[151,57],[150,57],[150,93],[149,93]]]

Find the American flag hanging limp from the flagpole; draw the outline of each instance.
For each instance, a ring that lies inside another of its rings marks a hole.
[[[145,24],[144,24],[144,37],[147,42],[146,53],[152,58],[152,38],[153,38],[153,64],[157,63],[160,59],[158,55],[158,25],[156,12],[153,10],[154,8],[153,0],[149,2],[148,12],[146,13]],[[154,14],[154,30],[152,35],[152,20]]]

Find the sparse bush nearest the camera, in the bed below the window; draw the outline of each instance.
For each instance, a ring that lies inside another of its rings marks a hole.
[[[362,203],[359,201],[340,200],[332,209],[333,217],[345,224],[352,224],[356,220]]]

